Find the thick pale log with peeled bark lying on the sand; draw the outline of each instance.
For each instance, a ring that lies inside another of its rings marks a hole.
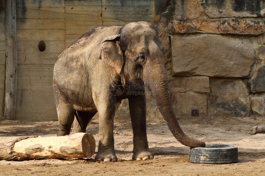
[[[90,158],[95,153],[93,135],[75,133],[49,137],[0,137],[0,160]]]

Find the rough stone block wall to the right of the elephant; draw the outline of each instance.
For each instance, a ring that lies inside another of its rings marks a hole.
[[[264,8],[258,0],[169,2],[169,85],[179,117],[191,109],[265,115]]]

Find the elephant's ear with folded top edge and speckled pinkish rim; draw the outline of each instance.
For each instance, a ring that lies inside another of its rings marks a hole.
[[[99,59],[116,69],[120,73],[123,67],[123,54],[120,46],[116,43],[120,34],[106,37],[102,42]]]

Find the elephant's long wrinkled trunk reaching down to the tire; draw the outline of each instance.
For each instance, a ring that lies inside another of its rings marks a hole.
[[[146,71],[146,73],[146,86],[152,92],[157,107],[174,137],[181,144],[188,147],[205,147],[203,141],[190,138],[181,130],[173,111],[164,65],[159,64],[157,68],[152,69],[152,71]],[[158,73],[161,74],[158,75]]]

